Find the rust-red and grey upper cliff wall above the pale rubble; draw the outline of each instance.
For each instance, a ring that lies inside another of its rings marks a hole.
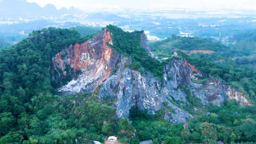
[[[66,48],[67,52],[67,63],[73,67],[74,72],[77,70],[86,69],[88,66],[95,63],[98,60],[98,63],[106,63],[110,60],[112,48],[106,43],[112,43],[112,38],[110,32],[104,30],[102,47],[95,47],[95,43],[84,42],[81,44],[76,43],[74,46],[70,45]],[[64,52],[59,52],[56,55],[54,64],[58,64],[61,70],[65,71],[65,59],[61,58]],[[100,59],[97,59],[100,58]]]

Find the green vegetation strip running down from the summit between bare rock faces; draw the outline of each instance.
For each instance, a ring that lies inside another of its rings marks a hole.
[[[146,49],[141,46],[141,34],[143,31],[129,33],[113,25],[108,25],[106,28],[112,33],[112,47],[119,53],[131,58],[132,69],[140,70],[143,67],[154,76],[160,79],[163,78],[166,62],[161,63],[158,59],[152,58]]]

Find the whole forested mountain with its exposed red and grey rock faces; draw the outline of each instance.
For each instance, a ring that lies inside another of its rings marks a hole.
[[[0,143],[255,142],[255,105],[182,51],[161,63],[146,38],[45,28],[1,49]]]

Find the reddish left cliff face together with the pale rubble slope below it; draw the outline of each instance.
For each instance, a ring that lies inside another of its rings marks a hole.
[[[112,61],[116,61],[117,58],[114,56],[112,59],[112,54],[116,54],[116,52],[113,52],[111,46],[107,45],[107,43],[112,44],[111,33],[107,30],[103,30],[87,42],[70,45],[68,48],[57,53],[53,58],[54,68],[59,76],[63,74],[65,77],[68,75],[65,70],[68,65],[73,68],[74,72],[78,70],[82,71],[79,77],[86,75],[83,79],[79,79],[78,77],[78,79],[75,80],[77,83],[72,82],[76,83],[76,85],[80,85],[74,86],[74,88],[76,87],[74,91],[81,91],[81,89],[84,89],[83,86],[88,83],[98,85],[109,78],[112,67],[115,67]],[[81,82],[79,82],[79,80]],[[72,91],[72,89],[69,90]]]

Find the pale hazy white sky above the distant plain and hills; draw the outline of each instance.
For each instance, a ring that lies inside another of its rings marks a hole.
[[[36,2],[40,6],[47,3],[54,4],[58,9],[65,6],[78,7],[82,10],[97,9],[99,7],[115,8],[149,8],[165,6],[181,6],[193,9],[207,8],[230,8],[230,9],[255,9],[256,0],[27,0]]]

